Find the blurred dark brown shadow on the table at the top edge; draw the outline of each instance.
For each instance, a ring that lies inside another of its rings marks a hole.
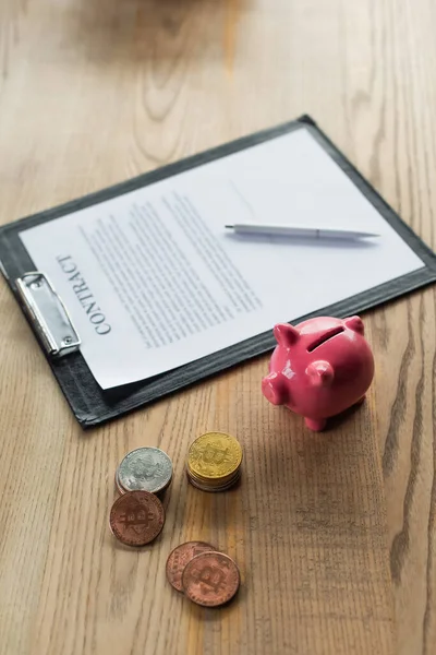
[[[217,58],[234,49],[239,19],[251,4],[252,0],[80,0],[65,23],[72,45],[101,67]]]

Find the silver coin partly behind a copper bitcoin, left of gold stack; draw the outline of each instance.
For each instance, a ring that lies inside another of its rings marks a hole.
[[[137,448],[125,455],[118,467],[117,477],[125,491],[157,493],[171,481],[172,462],[158,448]]]

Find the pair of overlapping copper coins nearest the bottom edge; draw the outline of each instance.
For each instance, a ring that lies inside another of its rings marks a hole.
[[[167,579],[178,592],[203,607],[231,600],[241,583],[238,564],[205,541],[187,541],[170,552]]]

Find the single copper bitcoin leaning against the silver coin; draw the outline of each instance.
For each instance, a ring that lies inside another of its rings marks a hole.
[[[164,505],[149,491],[128,491],[110,510],[110,529],[126,546],[149,544],[160,534],[164,523]]]

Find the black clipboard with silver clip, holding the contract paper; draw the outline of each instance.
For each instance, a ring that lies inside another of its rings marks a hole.
[[[323,314],[346,318],[436,281],[435,253],[402,222],[308,116],[302,116],[294,121],[251,134],[61,206],[4,225],[0,228],[0,270],[43,348],[74,416],[84,429],[144,407],[245,360],[271,352],[276,346],[272,330],[145,381],[102,390],[81,354],[81,338],[68,308],[44,272],[35,271],[34,262],[19,237],[20,231],[153,184],[302,127],[311,131],[318,144],[339,165],[360,192],[419,255],[424,266],[292,322],[296,324]]]

